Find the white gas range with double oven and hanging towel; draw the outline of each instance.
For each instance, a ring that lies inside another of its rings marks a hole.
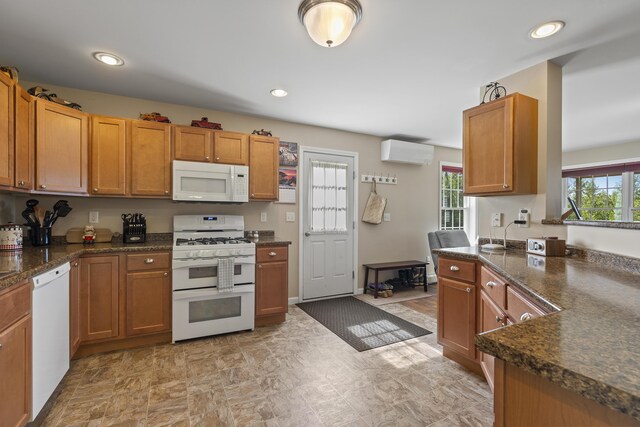
[[[173,342],[254,328],[255,244],[237,215],[173,217]]]

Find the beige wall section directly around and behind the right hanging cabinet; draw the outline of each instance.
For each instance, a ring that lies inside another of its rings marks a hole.
[[[538,194],[524,196],[478,197],[479,235],[490,233],[502,238],[504,227],[490,227],[491,213],[504,214],[503,225],[517,219],[521,208],[531,211],[531,227],[512,225],[509,239],[524,240],[532,236],[566,237],[564,226],[546,226],[541,221],[560,217],[562,159],[562,73],[551,63],[543,62],[511,76],[498,79],[508,93],[520,92],[538,100]],[[480,88],[480,98],[484,86]]]

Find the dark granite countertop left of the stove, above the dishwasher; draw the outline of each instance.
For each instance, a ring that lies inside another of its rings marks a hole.
[[[22,252],[1,252],[0,291],[83,254],[170,251],[172,245],[172,240],[134,244],[122,242],[94,243],[92,245],[52,244],[49,246],[25,246]]]

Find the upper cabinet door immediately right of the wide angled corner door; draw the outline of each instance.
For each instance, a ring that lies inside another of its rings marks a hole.
[[[91,194],[124,196],[127,121],[93,116],[91,125]]]

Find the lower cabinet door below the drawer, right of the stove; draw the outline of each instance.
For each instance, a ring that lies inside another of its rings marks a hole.
[[[287,262],[262,262],[256,266],[256,316],[287,312]]]

